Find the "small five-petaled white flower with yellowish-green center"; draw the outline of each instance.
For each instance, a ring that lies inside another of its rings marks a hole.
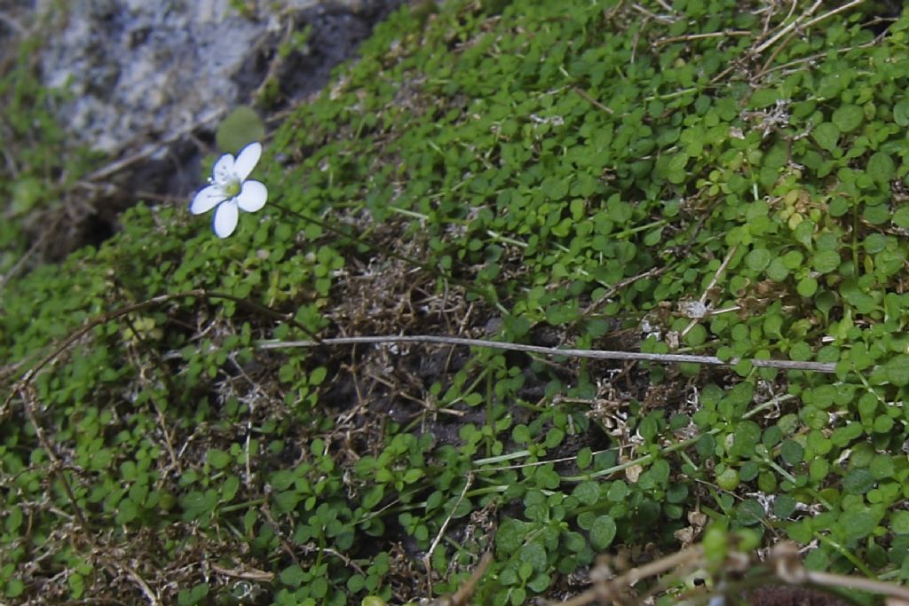
[[[247,181],[246,177],[253,172],[255,164],[262,155],[262,144],[246,145],[236,160],[231,154],[224,154],[215,163],[210,185],[195,194],[189,203],[189,212],[203,214],[215,209],[212,218],[212,230],[219,238],[226,238],[236,229],[240,211],[255,213],[268,199],[265,184],[258,181]]]

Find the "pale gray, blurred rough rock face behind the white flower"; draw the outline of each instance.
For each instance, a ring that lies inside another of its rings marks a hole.
[[[276,19],[254,22],[226,0],[73,0],[41,57],[78,140],[108,154],[137,138],[192,130],[237,103],[232,77]]]

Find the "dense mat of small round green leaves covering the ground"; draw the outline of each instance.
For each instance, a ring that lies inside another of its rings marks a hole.
[[[4,600],[402,603],[492,551],[519,604],[709,526],[909,577],[909,17],[796,4],[404,10],[230,239],[139,205],[7,283]],[[400,333],[740,362],[263,348]]]

